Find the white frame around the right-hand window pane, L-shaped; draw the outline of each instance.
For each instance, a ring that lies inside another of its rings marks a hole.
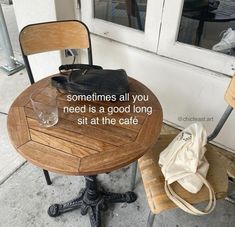
[[[183,3],[184,0],[165,0],[158,54],[233,75],[235,72],[234,57],[177,41]]]

